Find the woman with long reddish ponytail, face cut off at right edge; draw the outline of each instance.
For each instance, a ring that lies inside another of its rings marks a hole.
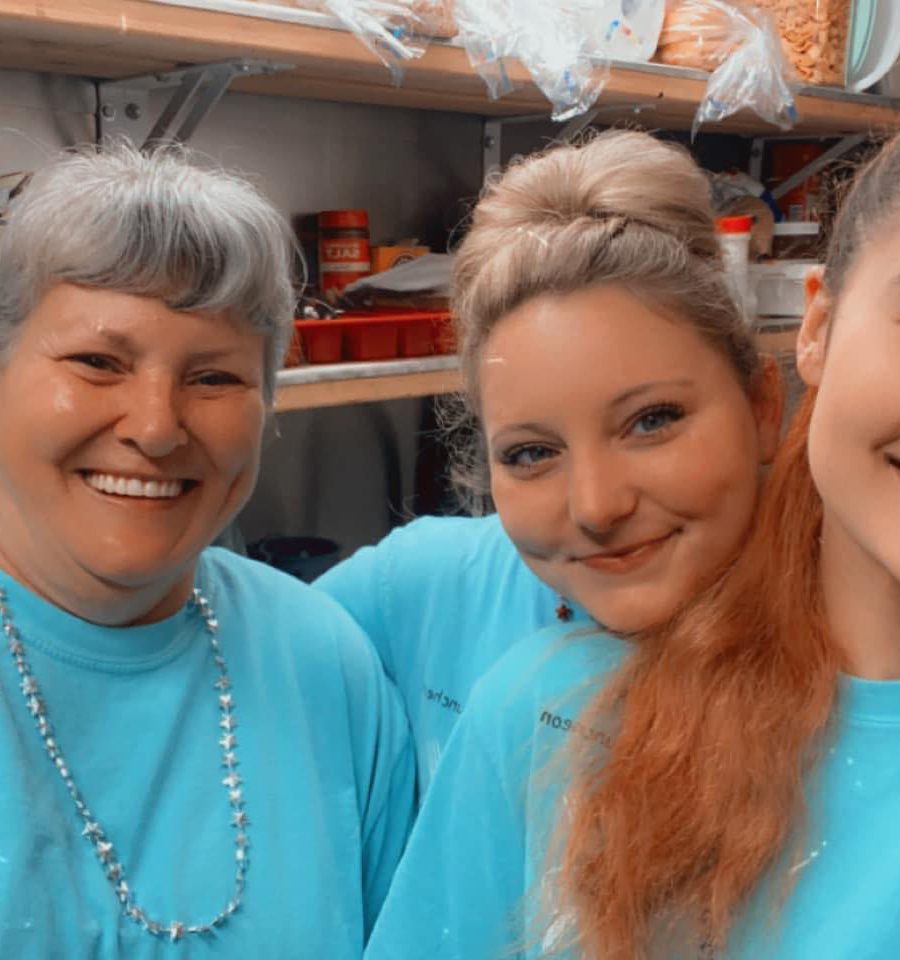
[[[637,642],[543,663],[544,638],[534,680],[511,656],[484,679],[369,956],[897,956],[898,248],[895,139],[808,281],[810,390],[745,549]],[[573,718],[562,782],[548,689]]]

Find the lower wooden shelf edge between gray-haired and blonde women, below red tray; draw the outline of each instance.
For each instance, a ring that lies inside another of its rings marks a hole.
[[[456,357],[293,367],[278,374],[275,412],[427,397],[460,385]]]

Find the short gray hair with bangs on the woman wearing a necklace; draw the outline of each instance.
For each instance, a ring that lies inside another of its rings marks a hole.
[[[155,297],[260,333],[263,392],[292,332],[290,229],[241,177],[180,146],[83,148],[39,171],[0,236],[0,357],[57,283]]]

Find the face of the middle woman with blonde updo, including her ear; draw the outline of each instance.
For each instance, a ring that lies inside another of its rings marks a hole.
[[[611,630],[659,623],[740,546],[777,398],[626,290],[530,300],[482,354],[491,492],[545,583]]]

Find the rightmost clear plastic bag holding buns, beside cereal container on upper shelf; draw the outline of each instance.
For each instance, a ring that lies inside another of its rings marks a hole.
[[[712,71],[694,117],[700,125],[750,109],[787,130],[797,119],[793,74],[772,18],[722,0],[669,0],[656,59]]]

